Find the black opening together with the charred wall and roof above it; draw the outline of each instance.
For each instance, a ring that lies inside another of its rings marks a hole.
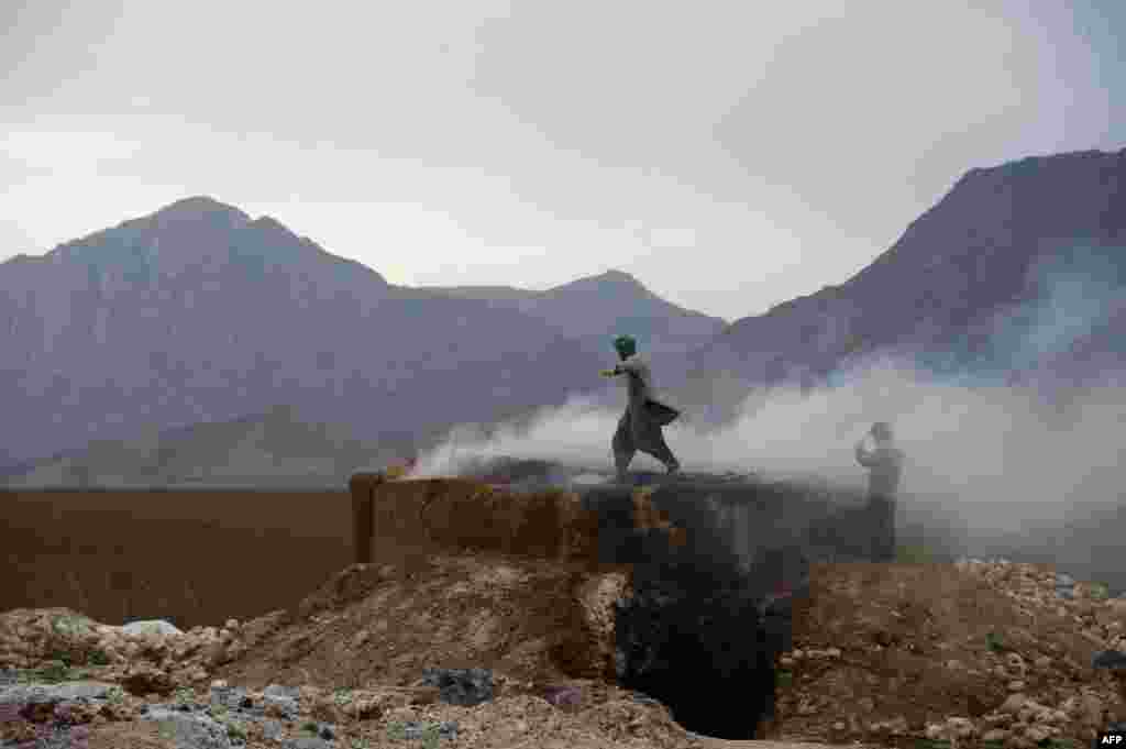
[[[597,518],[597,556],[632,570],[614,610],[619,686],[663,705],[686,730],[725,740],[761,738],[776,708],[777,657],[790,649],[795,608],[813,561],[866,558],[869,526],[857,498],[753,476],[637,476],[638,487],[575,481],[546,461],[489,461],[468,478],[511,493],[564,489]],[[851,501],[849,501],[851,499]],[[464,537],[465,525],[459,526]],[[670,543],[670,528],[680,543]]]

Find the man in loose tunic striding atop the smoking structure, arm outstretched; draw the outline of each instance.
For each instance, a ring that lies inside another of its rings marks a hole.
[[[604,377],[625,375],[629,393],[626,411],[618,420],[611,442],[618,481],[626,480],[626,469],[637,451],[652,455],[673,474],[680,470],[680,463],[665,444],[661,428],[676,420],[680,412],[653,400],[652,374],[649,364],[637,356],[637,342],[632,336],[615,338],[614,348],[620,363],[600,374]]]

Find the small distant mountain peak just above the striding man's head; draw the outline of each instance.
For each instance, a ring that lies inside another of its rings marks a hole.
[[[637,338],[656,358],[682,354],[723,330],[725,322],[661,298],[620,270],[589,276],[536,292],[511,286],[427,287],[459,298],[475,298],[519,310],[543,320],[560,335],[602,350],[619,333]]]

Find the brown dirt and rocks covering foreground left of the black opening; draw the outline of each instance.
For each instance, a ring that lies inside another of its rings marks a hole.
[[[170,748],[152,716],[195,715],[208,693],[214,708],[215,688],[227,684],[253,705],[271,704],[271,685],[300,685],[300,708],[295,699],[294,711],[279,712],[274,699],[266,717],[278,724],[270,731],[301,737],[305,725],[323,723],[333,737],[315,744],[324,749],[402,747],[396,726],[438,724],[457,725],[456,737],[440,743],[454,747],[701,746],[662,705],[607,683],[610,612],[626,586],[617,572],[484,555],[435,558],[410,572],[354,565],[292,613],[214,631],[134,635],[66,609],[9,612],[0,615],[0,663],[36,667],[20,671],[24,680],[120,687],[92,704],[64,705],[66,720],[86,726],[74,735],[90,747]],[[234,659],[209,658],[224,642]],[[445,704],[422,684],[431,667],[490,668],[494,698]],[[234,724],[213,708],[198,721]],[[278,746],[262,725],[238,724],[245,742],[233,746]]]

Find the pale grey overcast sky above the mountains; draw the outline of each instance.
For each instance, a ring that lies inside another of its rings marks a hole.
[[[395,284],[727,319],[965,171],[1126,145],[1118,0],[0,0],[0,259],[189,195]]]

